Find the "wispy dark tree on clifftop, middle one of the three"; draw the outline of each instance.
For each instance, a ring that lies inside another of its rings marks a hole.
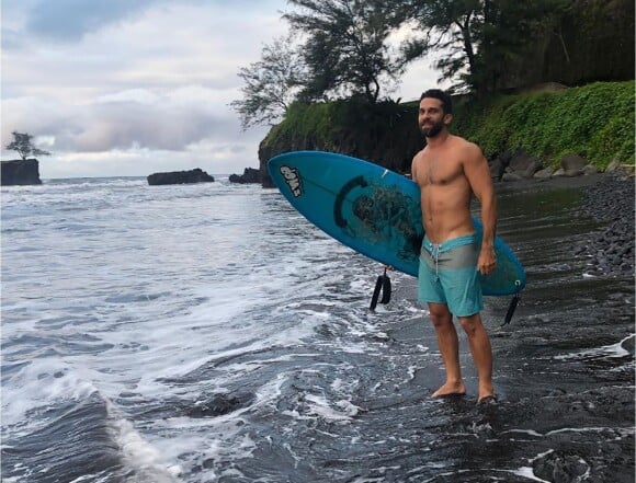
[[[300,99],[363,95],[377,102],[381,89],[396,81],[401,66],[390,58],[387,37],[396,7],[382,0],[289,0],[299,8],[284,14],[303,33],[307,77]]]

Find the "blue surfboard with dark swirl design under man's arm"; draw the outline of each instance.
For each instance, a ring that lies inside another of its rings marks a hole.
[[[420,188],[377,164],[343,154],[295,151],[276,156],[268,171],[287,200],[322,231],[353,250],[418,276],[424,237]],[[482,225],[473,217],[478,239]],[[497,269],[481,276],[487,296],[518,294],[525,271],[496,237]]]

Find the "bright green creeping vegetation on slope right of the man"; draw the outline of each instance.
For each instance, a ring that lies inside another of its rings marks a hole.
[[[595,82],[485,105],[459,101],[453,127],[489,159],[523,149],[553,165],[573,153],[600,169],[613,159],[634,164],[634,81]]]

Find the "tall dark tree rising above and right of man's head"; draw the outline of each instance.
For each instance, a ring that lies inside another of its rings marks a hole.
[[[569,0],[409,0],[406,18],[423,35],[405,44],[405,61],[433,51],[455,90],[486,94],[499,88],[510,62],[524,55],[541,27],[563,12]]]

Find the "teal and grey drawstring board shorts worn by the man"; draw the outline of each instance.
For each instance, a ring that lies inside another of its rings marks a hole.
[[[432,243],[424,237],[420,252],[418,300],[445,303],[455,317],[484,309],[477,272],[479,243],[475,233]]]

